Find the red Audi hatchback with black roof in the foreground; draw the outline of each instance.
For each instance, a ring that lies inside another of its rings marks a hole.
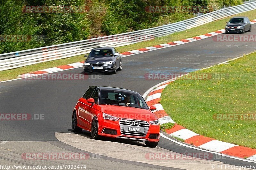
[[[156,147],[160,125],[150,106],[138,92],[115,87],[89,86],[72,115],[73,132],[91,131],[93,139],[100,136],[145,141]]]

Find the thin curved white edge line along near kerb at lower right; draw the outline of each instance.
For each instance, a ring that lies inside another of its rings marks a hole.
[[[245,162],[252,162],[252,163],[255,163],[255,161],[252,161],[252,160],[247,160],[247,159],[242,159],[242,158],[237,158],[237,157],[234,157],[234,156],[229,156],[229,155],[225,155],[223,153],[218,153],[218,152],[213,152],[213,151],[207,151],[207,150],[204,150],[204,149],[200,149],[200,148],[196,148],[194,146],[190,146],[190,145],[187,145],[187,144],[184,144],[184,143],[180,143],[176,140],[173,140],[173,139],[170,139],[169,137],[165,136],[163,133],[160,133],[160,136],[161,137],[164,137],[165,139],[168,139],[176,144],[179,144],[181,146],[185,146],[185,147],[188,147],[188,148],[191,148],[191,149],[196,149],[198,151],[204,151],[204,152],[209,152],[209,153],[214,153],[216,155],[221,155],[221,156],[225,156],[225,157],[228,157],[228,158],[233,158],[233,159],[237,159],[237,160],[242,160],[242,161],[245,161]]]

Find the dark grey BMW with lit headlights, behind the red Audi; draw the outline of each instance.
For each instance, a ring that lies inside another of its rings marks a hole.
[[[122,70],[122,59],[113,47],[93,48],[84,61],[84,72],[104,73]]]

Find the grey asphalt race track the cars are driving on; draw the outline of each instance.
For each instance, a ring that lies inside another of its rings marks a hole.
[[[255,35],[252,32],[244,35]],[[230,35],[230,34],[228,34]],[[242,34],[239,34],[242,35]],[[95,141],[88,132],[71,132],[71,114],[76,101],[90,85],[103,85],[131,89],[140,94],[164,80],[145,79],[147,73],[187,73],[227,61],[256,50],[256,42],[217,42],[207,38],[174,47],[157,49],[122,58],[123,70],[116,75],[100,75],[99,79],[88,80],[14,80],[0,83],[0,113],[44,114],[44,120],[1,121],[0,122],[0,164],[81,164],[80,160],[25,160],[22,153],[38,152],[88,152],[102,153],[103,159],[83,161],[87,169],[212,169],[211,164],[256,166],[256,163],[214,155],[211,160],[169,160],[152,163],[145,160],[148,152],[202,153],[195,149],[173,143],[163,137],[159,147],[147,148],[143,143],[120,139]],[[58,73],[80,73],[82,68]],[[82,137],[82,138],[81,138]],[[68,140],[67,140],[68,139]],[[80,142],[77,142],[79,140]],[[2,142],[1,141],[8,141]],[[87,146],[87,147],[86,147]],[[88,147],[90,146],[90,147]],[[103,147],[106,146],[106,147]],[[110,153],[113,147],[116,154]],[[85,147],[83,149],[83,147]],[[80,149],[79,149],[80,148]],[[125,151],[125,152],[124,152]],[[132,151],[132,153],[130,153]],[[129,154],[141,153],[133,159]],[[125,156],[126,153],[128,156]],[[144,156],[143,156],[144,154]],[[172,168],[171,168],[172,167]]]

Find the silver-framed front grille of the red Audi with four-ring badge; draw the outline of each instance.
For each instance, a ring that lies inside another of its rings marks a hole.
[[[130,122],[139,122],[139,125],[131,125]],[[129,136],[137,136],[137,137],[145,137],[148,133],[149,124],[146,121],[140,121],[140,120],[131,120],[131,119],[122,119],[119,121],[120,130],[122,135],[129,135]],[[144,128],[144,131],[141,132],[133,132],[133,131],[127,131],[124,130],[124,127],[126,128]]]

